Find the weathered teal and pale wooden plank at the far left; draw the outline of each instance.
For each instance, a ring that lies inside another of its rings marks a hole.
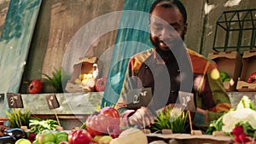
[[[41,0],[11,0],[0,38],[0,92],[18,93]],[[6,98],[0,116],[9,110]]]

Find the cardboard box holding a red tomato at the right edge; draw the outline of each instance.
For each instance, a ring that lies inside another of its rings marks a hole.
[[[256,91],[256,84],[247,83],[253,72],[256,72],[256,50],[248,50],[242,55],[241,76],[236,86],[238,91]]]

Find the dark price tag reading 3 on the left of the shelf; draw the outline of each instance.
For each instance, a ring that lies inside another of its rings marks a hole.
[[[7,94],[9,108],[23,108],[23,102],[20,94]]]

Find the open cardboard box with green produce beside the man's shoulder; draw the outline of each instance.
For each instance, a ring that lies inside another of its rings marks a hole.
[[[217,63],[219,72],[227,72],[230,76],[230,82],[224,82],[224,89],[235,91],[241,72],[241,55],[237,51],[213,52],[208,58]]]

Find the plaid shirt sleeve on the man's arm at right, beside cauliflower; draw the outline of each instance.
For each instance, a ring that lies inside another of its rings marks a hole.
[[[218,67],[213,61],[207,67],[204,82],[205,84],[201,89],[201,99],[202,108],[207,110],[207,115],[205,117],[201,116],[201,118],[204,118],[205,123],[203,125],[209,126],[213,120],[218,119],[224,112],[229,111],[231,104],[230,98],[219,78]],[[200,118],[200,115],[198,118]]]

